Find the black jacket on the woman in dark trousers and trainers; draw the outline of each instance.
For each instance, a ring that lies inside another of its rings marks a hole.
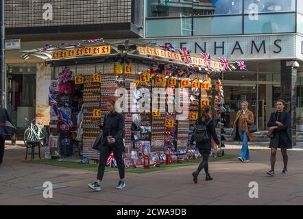
[[[124,118],[122,114],[107,114],[104,118],[102,144],[108,144],[107,136],[112,136],[116,144],[123,146],[123,133],[125,129]]]

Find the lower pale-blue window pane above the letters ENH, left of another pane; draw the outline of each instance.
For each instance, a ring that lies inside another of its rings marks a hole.
[[[194,36],[224,34],[242,34],[242,16],[212,16],[194,19]]]

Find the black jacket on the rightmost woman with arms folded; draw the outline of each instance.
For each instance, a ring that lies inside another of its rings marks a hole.
[[[287,147],[287,149],[292,148],[291,137],[289,133],[289,129],[291,127],[291,116],[288,112],[274,112],[271,114],[269,122],[267,126],[276,127],[276,122],[280,122],[283,126],[278,127],[274,131],[274,136],[271,138],[270,146],[278,146],[278,144],[282,144],[283,146]]]

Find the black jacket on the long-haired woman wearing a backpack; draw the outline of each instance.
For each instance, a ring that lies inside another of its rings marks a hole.
[[[211,120],[210,123],[208,123],[209,120]],[[211,137],[213,137],[213,139],[215,140],[217,145],[220,144],[219,138],[217,136],[217,132],[215,129],[215,124],[211,118],[206,119],[205,122],[202,122],[201,119],[198,119],[195,124],[196,125],[206,125],[207,123],[208,123],[208,125],[206,126],[206,129],[208,131],[208,136],[210,137],[210,140],[208,140],[207,142],[204,142],[204,143],[196,142],[198,149],[210,149],[211,150]],[[193,136],[191,136],[191,144],[193,144],[193,142],[194,142],[194,139],[193,139]]]

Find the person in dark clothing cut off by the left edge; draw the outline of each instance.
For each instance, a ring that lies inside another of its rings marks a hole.
[[[8,110],[0,107],[0,166],[3,162],[5,140],[11,139],[16,139],[16,127],[12,123]]]

